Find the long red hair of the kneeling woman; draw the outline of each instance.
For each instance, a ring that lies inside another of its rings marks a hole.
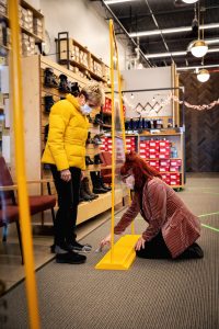
[[[120,168],[120,174],[126,175],[132,171],[135,177],[135,188],[139,191],[145,185],[146,181],[158,177],[162,179],[161,174],[152,167],[150,167],[146,160],[141,159],[136,152],[130,151],[126,154],[126,161]]]

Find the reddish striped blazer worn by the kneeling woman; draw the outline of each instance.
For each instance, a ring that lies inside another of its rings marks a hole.
[[[161,230],[172,258],[180,256],[200,236],[200,223],[171,186],[159,178],[149,180],[142,191],[142,203],[136,193],[131,205],[115,226],[122,234],[140,212],[148,227],[142,238],[150,241]]]

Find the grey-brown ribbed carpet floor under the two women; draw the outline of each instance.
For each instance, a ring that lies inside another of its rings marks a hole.
[[[180,196],[197,215],[219,212],[219,177],[192,177]],[[51,261],[37,274],[42,328],[45,329],[218,329],[219,213],[201,217],[203,260],[136,259],[128,271],[97,271],[103,253],[85,264]],[[82,241],[94,249],[110,220]],[[140,232],[145,223],[136,220]],[[214,230],[216,228],[218,230]],[[3,296],[3,328],[28,328],[24,284]]]

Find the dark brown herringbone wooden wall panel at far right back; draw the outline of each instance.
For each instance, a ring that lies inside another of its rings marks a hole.
[[[209,104],[219,99],[219,72],[200,83],[196,75],[181,73],[180,84],[185,87],[185,100],[191,104]],[[219,105],[197,111],[185,106],[186,171],[219,171]]]

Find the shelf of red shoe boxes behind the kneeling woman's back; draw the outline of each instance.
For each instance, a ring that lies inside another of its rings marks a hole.
[[[184,185],[181,133],[139,135],[139,155],[173,188]]]

